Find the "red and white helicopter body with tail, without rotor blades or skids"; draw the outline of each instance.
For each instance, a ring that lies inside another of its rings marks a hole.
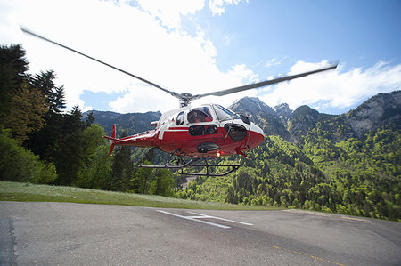
[[[160,117],[154,130],[121,139],[113,136],[114,145],[142,148],[157,147],[167,153],[185,157],[220,157],[257,147],[264,133],[249,117],[240,116],[216,104],[184,107],[168,111]]]

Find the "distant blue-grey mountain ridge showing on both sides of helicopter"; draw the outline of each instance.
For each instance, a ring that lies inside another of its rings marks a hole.
[[[244,97],[233,102],[229,109],[252,116],[266,135],[279,135],[286,141],[298,143],[313,128],[321,128],[325,137],[333,142],[349,138],[361,138],[365,133],[382,125],[393,123],[401,127],[401,91],[379,93],[364,101],[356,109],[341,115],[319,113],[307,105],[291,110],[287,103],[271,108],[257,97]],[[84,113],[84,117],[91,112]],[[161,117],[160,111],[119,114],[111,111],[93,110],[94,123],[110,133],[117,124],[118,133],[128,135],[152,129],[151,122]]]

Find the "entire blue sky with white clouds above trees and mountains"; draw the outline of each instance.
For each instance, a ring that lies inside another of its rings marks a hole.
[[[19,26],[177,93],[206,93],[318,69],[335,71],[192,105],[244,96],[340,114],[401,86],[401,1],[0,0],[0,43],[22,44],[30,71],[53,69],[69,108],[175,109],[167,93]]]

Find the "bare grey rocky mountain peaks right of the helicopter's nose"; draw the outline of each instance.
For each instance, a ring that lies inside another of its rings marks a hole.
[[[324,138],[339,142],[361,138],[365,133],[393,123],[401,126],[401,91],[379,93],[356,109],[341,115],[319,113],[308,106],[292,111],[283,103],[270,108],[258,98],[245,97],[230,106],[235,112],[250,114],[267,135],[279,135],[286,141],[298,143],[315,129]]]

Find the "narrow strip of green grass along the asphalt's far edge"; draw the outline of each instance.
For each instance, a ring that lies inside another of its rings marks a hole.
[[[96,189],[36,185],[0,181],[0,201],[72,202],[124,206],[149,206],[159,208],[215,209],[215,210],[271,210],[266,206],[238,206],[203,202],[173,197],[139,195]]]

